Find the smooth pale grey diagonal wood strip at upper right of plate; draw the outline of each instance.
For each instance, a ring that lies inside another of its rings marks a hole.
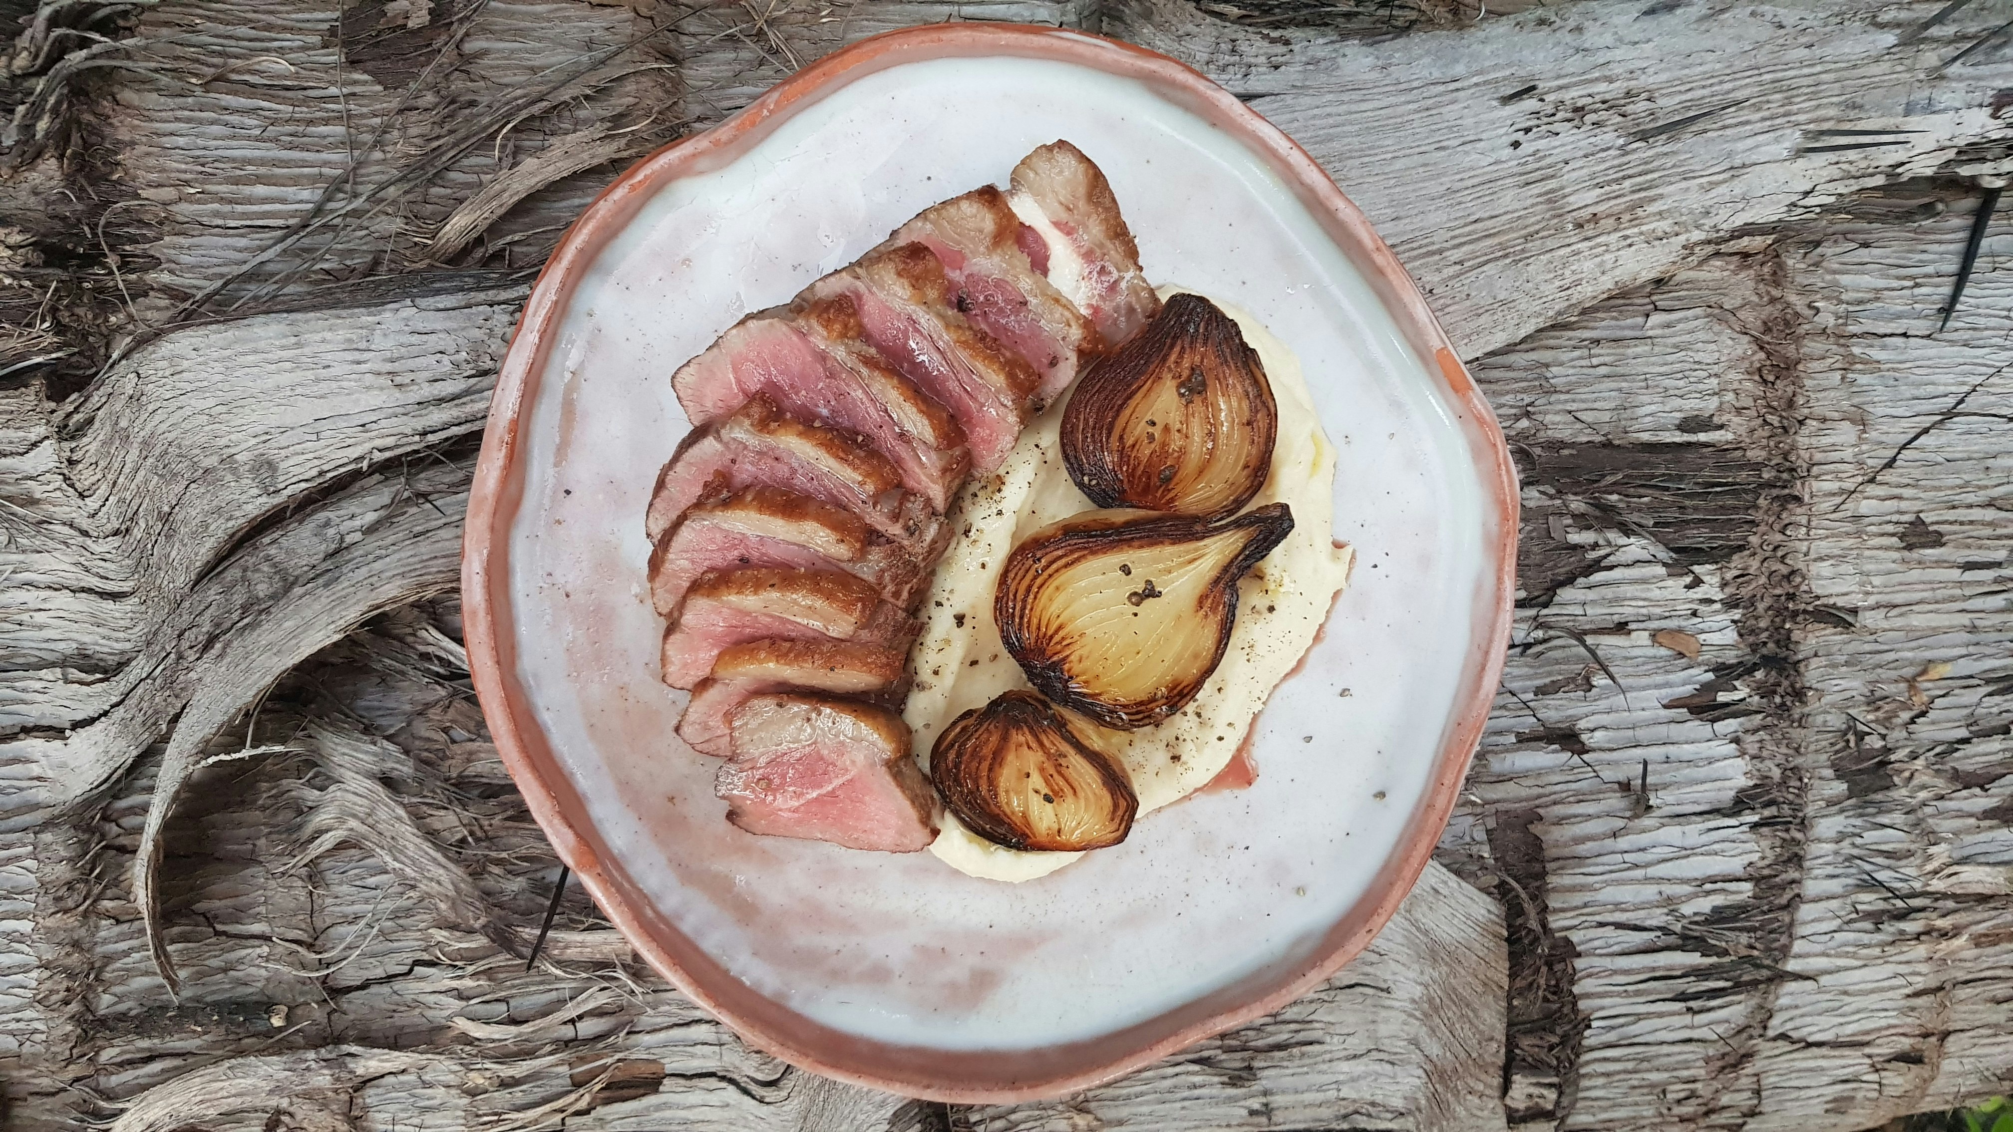
[[[1113,0],[1103,30],[1198,66],[1327,167],[1463,357],[1649,282],[1743,226],[1894,175],[1999,171],[2001,22],[1934,0],[1568,4],[1359,40]],[[1890,131],[1842,135],[1838,131]]]

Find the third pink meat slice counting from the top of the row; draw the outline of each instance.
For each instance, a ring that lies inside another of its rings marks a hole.
[[[870,252],[811,284],[805,302],[843,296],[866,340],[964,429],[972,465],[992,471],[1021,437],[1041,375],[956,310],[956,286],[924,244]]]

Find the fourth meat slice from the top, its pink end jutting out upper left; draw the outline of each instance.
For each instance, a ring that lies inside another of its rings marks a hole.
[[[763,310],[678,367],[670,385],[694,425],[727,417],[761,393],[799,421],[858,433],[910,491],[942,512],[962,475],[956,423],[886,365],[847,365],[858,359],[819,346],[787,310]]]

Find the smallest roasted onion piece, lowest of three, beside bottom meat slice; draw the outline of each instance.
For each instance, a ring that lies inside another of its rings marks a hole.
[[[980,838],[1015,850],[1115,846],[1139,798],[1087,727],[1031,691],[1009,691],[950,721],[930,749],[944,806]]]

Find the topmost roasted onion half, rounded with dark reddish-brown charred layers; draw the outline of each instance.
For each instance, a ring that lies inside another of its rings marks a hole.
[[[1264,487],[1276,439],[1258,352],[1200,294],[1091,363],[1063,409],[1063,463],[1099,508],[1234,514]]]

